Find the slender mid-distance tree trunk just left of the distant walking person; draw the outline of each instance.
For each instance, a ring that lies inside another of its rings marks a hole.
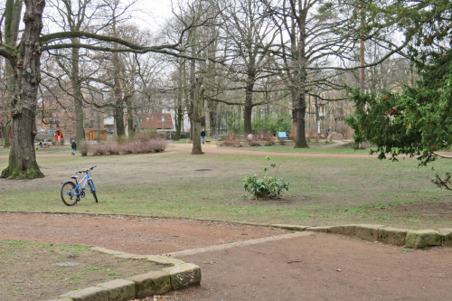
[[[204,87],[202,78],[197,78],[193,83],[193,148],[192,155],[202,155],[201,146],[201,122],[202,122],[202,98]]]

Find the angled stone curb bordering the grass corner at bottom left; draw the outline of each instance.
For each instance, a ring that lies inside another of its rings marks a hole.
[[[127,279],[115,279],[99,283],[95,287],[73,290],[49,301],[127,301],[165,294],[173,290],[197,286],[201,283],[201,268],[193,263],[185,263],[182,260],[165,256],[129,254],[100,247],[91,249],[120,259],[146,259],[158,265],[169,266],[169,268],[162,268],[160,271],[128,277]]]

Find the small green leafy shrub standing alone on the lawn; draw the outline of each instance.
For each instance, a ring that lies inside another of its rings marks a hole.
[[[265,158],[267,161],[270,160],[269,156]],[[275,168],[276,164],[272,163],[270,166]],[[275,177],[268,176],[268,167],[264,168],[264,175],[261,178],[256,174],[247,175],[242,179],[243,188],[256,198],[280,198],[284,190],[288,191],[288,183],[283,178],[277,178],[278,168]]]

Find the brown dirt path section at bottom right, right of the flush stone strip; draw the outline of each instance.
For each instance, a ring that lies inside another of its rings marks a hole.
[[[169,295],[184,301],[452,300],[452,249],[402,249],[315,233],[195,254],[180,259],[201,266],[201,287]]]

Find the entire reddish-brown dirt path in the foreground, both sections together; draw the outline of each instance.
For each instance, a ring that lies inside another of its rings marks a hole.
[[[1,239],[95,244],[136,254],[290,232],[210,221],[42,213],[2,213],[0,229]],[[306,232],[289,240],[180,257],[201,266],[202,284],[162,299],[451,300],[451,258],[451,248],[405,252],[402,247]]]

